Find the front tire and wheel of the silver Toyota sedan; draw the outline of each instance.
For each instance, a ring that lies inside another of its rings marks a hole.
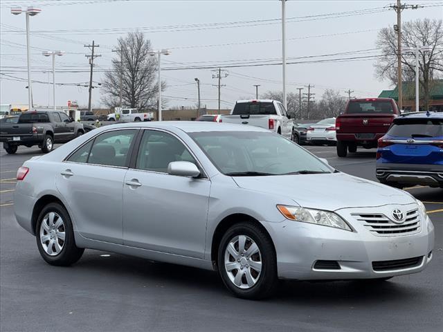
[[[244,241],[244,252],[239,250],[241,238]],[[251,257],[246,256],[248,250],[254,248],[254,243],[258,251],[255,251]],[[228,246],[233,251],[228,252]],[[233,252],[233,255],[230,252]],[[217,261],[221,279],[235,296],[242,299],[262,299],[271,296],[275,290],[278,282],[275,250],[269,235],[257,225],[238,223],[229,228],[220,241]],[[257,264],[259,261],[260,265]],[[225,262],[232,267],[229,272]],[[252,265],[257,269],[260,268],[260,272]],[[239,273],[242,274],[237,279]],[[234,284],[235,282],[239,285]]]

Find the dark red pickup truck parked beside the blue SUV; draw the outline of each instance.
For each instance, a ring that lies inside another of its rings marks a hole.
[[[377,140],[399,115],[395,100],[390,98],[350,100],[336,118],[337,155],[345,157],[347,151],[356,152],[357,147],[377,147]]]

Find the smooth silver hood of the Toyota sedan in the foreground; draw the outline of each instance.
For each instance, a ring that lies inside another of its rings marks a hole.
[[[415,203],[402,190],[345,173],[236,176],[234,180],[244,189],[285,196],[305,208],[335,211]]]

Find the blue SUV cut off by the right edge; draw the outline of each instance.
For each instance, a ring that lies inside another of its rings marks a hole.
[[[443,113],[407,113],[379,139],[376,175],[381,183],[443,187]]]

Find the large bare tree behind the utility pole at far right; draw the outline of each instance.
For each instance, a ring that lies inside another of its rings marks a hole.
[[[443,72],[443,22],[442,19],[418,19],[408,21],[402,26],[401,44],[404,48],[431,46],[428,52],[419,51],[419,84],[426,109],[429,107],[430,91],[433,80]],[[383,28],[379,32],[376,45],[381,48],[382,56],[375,66],[376,75],[397,84],[397,33],[392,28]],[[415,80],[415,55],[401,55],[403,80]],[[405,91],[406,95],[415,95],[414,91]]]

